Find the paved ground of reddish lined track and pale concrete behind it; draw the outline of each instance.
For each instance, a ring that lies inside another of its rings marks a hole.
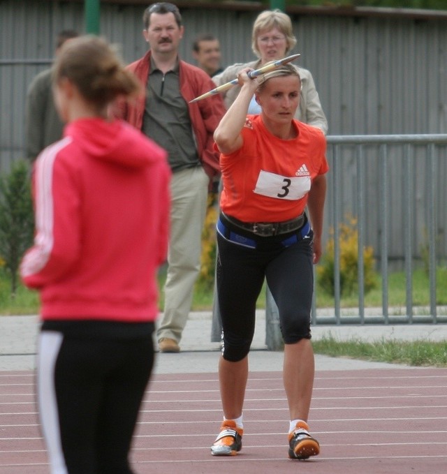
[[[221,420],[219,343],[209,313],[193,313],[182,353],[159,354],[132,454],[139,474],[441,474],[447,466],[447,369],[316,355],[309,417],[321,454],[287,459],[282,353],[265,349],[258,315],[244,405],[244,446],[214,458]],[[36,316],[0,316],[0,474],[47,474],[34,392]],[[314,338],[447,341],[447,325],[314,327]]]

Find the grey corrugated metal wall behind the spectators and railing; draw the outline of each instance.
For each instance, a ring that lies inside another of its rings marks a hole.
[[[148,2],[149,4],[150,2]],[[142,38],[144,6],[101,4],[101,34],[122,48],[131,62],[147,50]],[[196,34],[211,31],[221,41],[223,65],[254,59],[251,26],[258,12],[184,9],[185,35],[180,54],[193,62]],[[27,85],[52,57],[54,38],[61,29],[83,30],[83,3],[3,0],[0,2],[0,171],[23,156],[24,96]],[[410,20],[400,17],[295,16],[300,64],[309,68],[328,116],[330,135],[447,133],[447,19]],[[17,64],[8,64],[8,60]],[[22,63],[22,64],[20,64]],[[402,187],[402,156],[390,161],[396,190]],[[355,210],[355,170],[346,160],[343,205]],[[417,163],[418,189],[425,189],[424,164]],[[416,165],[415,163],[415,165]],[[374,153],[367,164],[367,205],[374,206]],[[446,157],[439,160],[439,229],[447,223]],[[350,179],[350,177],[352,179]],[[330,195],[328,196],[330,199]],[[403,209],[396,191],[393,215]],[[415,195],[415,211],[425,212],[425,191]],[[372,223],[375,225],[375,223]],[[402,228],[402,227],[401,227]],[[400,225],[392,229],[399,253]],[[420,236],[423,230],[420,230]],[[374,232],[372,232],[374,234]],[[421,239],[422,237],[420,237]],[[445,237],[444,237],[445,238]],[[376,237],[367,242],[377,248]],[[444,242],[445,246],[445,242]]]

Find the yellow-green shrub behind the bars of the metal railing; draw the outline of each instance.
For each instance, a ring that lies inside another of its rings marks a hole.
[[[348,223],[339,225],[339,269],[340,292],[342,296],[353,295],[358,291],[358,230],[357,220],[348,218]],[[335,243],[334,230],[330,230],[330,239],[320,264],[316,268],[318,286],[328,295],[335,294]],[[364,291],[376,288],[374,271],[374,251],[372,247],[363,249],[363,272],[365,275]]]

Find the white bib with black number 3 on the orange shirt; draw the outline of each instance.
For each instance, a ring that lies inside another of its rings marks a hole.
[[[309,191],[309,176],[285,177],[263,170],[259,173],[258,182],[254,188],[256,194],[291,201],[301,199]]]

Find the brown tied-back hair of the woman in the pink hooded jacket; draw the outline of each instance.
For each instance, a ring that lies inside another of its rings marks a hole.
[[[105,39],[93,35],[79,36],[62,45],[54,62],[53,82],[64,77],[99,108],[117,96],[137,96],[141,89],[115,49]]]

